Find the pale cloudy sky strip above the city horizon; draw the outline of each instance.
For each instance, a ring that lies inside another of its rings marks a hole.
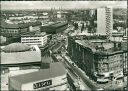
[[[1,1],[2,10],[18,9],[74,9],[102,6],[127,8],[127,1]]]

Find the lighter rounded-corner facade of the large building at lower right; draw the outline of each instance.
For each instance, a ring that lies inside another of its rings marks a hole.
[[[112,79],[123,77],[123,54],[124,52],[95,54],[94,65],[97,82],[108,82],[111,76]]]

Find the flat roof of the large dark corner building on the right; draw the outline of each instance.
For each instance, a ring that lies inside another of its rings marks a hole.
[[[88,41],[88,40],[75,40],[76,43],[86,47],[90,48],[94,53],[100,54],[100,55],[113,55],[118,54],[121,52],[126,51],[126,43],[121,43],[120,50],[115,50],[114,43],[112,42],[105,42],[105,41]]]

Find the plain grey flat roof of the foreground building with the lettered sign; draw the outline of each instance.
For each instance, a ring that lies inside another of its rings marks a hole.
[[[48,69],[40,69],[39,71],[36,72],[12,76],[10,77],[10,82],[12,83],[18,82],[20,84],[26,84],[45,79],[52,79],[62,75],[66,75],[66,70],[64,66],[60,62],[55,62],[55,63],[51,63],[50,68]]]

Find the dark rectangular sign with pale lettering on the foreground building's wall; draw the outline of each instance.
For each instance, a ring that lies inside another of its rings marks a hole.
[[[46,87],[46,86],[50,86],[50,85],[52,85],[52,80],[46,80],[46,81],[42,81],[42,82],[33,84],[33,88],[38,89],[38,88],[42,88],[42,87]]]

